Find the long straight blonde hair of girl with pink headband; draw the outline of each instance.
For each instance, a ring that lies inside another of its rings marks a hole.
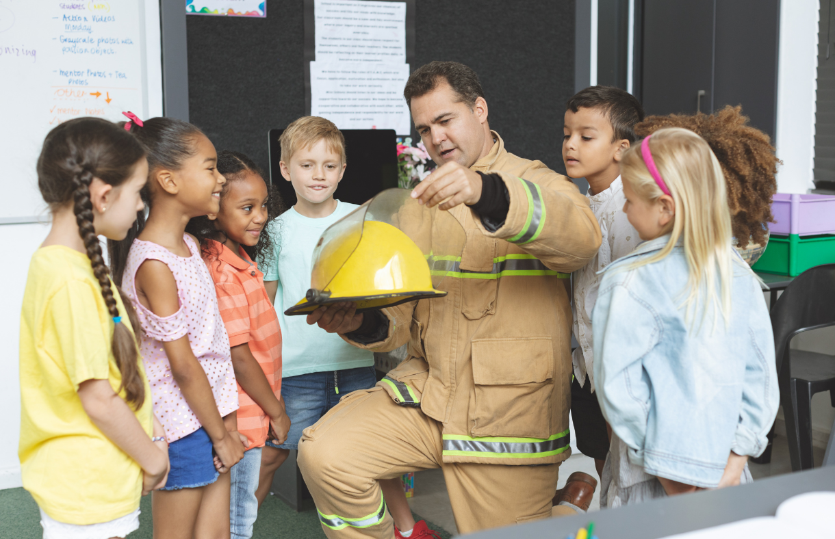
[[[670,240],[664,248],[639,260],[630,269],[664,259],[683,239],[690,270],[686,290],[681,294],[685,296],[686,318],[697,310],[704,287],[703,317],[709,305],[716,305],[727,324],[731,315],[732,265],[741,260],[736,260],[738,257],[731,251],[731,212],[721,165],[710,146],[696,133],[682,128],[655,131],[649,143],[644,139],[633,145],[620,163],[623,181],[630,184],[636,195],[649,202],[655,202],[663,193],[646,168],[641,144],[650,144],[661,179],[676,203],[676,214]],[[747,264],[739,265],[748,269]]]

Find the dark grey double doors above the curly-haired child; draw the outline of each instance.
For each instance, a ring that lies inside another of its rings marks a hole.
[[[640,8],[647,114],[741,104],[774,138],[780,0],[643,0]]]

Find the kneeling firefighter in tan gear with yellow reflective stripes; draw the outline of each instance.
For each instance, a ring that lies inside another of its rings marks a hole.
[[[377,480],[438,467],[460,533],[551,516],[570,455],[567,283],[600,247],[597,220],[569,179],[504,149],[472,69],[428,63],[403,93],[438,164],[411,196],[447,210],[465,243],[445,257],[443,297],[307,315],[363,349],[408,343],[407,360],[301,437],[328,537],[395,536]],[[596,481],[569,479],[555,515],[588,508]]]

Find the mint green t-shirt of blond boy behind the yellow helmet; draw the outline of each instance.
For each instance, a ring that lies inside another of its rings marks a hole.
[[[325,370],[354,369],[374,365],[374,354],[361,350],[327,333],[318,325],[307,325],[306,316],[285,316],[311,287],[313,249],[322,232],[359,206],[337,200],[337,209],[327,217],[311,219],[288,209],[276,218],[273,239],[278,257],[264,272],[264,280],[277,280],[276,312],[281,325],[281,376],[306,375]]]

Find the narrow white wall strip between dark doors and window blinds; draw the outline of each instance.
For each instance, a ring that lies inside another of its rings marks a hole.
[[[782,0],[777,63],[777,174],[781,193],[814,189],[817,0]]]

